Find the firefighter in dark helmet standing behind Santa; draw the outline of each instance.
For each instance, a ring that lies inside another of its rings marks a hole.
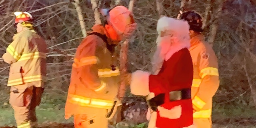
[[[202,18],[193,11],[184,12],[180,18],[190,25],[190,55],[194,76],[191,88],[193,120],[197,128],[212,127],[212,97],[219,87],[218,60],[214,50],[202,36]]]

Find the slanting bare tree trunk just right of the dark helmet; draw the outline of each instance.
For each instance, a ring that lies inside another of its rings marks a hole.
[[[213,46],[213,44],[214,44],[216,33],[217,33],[217,30],[218,30],[218,27],[219,27],[218,26],[218,21],[219,21],[218,19],[219,19],[220,15],[221,15],[223,4],[224,4],[225,1],[226,0],[223,0],[222,2],[220,2],[219,8],[218,8],[218,12],[217,12],[217,14],[216,14],[216,16],[214,18],[216,20],[214,20],[214,22],[212,23],[211,28],[210,28],[210,36],[208,37],[207,41],[210,43],[211,46]]]

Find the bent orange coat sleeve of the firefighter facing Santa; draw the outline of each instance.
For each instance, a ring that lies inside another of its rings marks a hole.
[[[87,88],[95,92],[102,92],[106,88],[106,83],[98,77],[98,58],[95,56],[97,42],[93,39],[86,40],[85,45],[79,55],[74,58],[73,68],[76,68],[77,77]]]

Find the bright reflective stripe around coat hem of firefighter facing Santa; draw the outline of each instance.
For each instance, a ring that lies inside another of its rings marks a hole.
[[[80,106],[95,107],[95,108],[112,108],[114,102],[112,100],[102,100],[95,98],[88,98],[73,94],[68,94],[68,101],[73,104],[79,104]]]

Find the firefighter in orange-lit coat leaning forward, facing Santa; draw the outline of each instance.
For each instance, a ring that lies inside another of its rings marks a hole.
[[[76,50],[65,118],[74,116],[75,128],[108,128],[107,113],[114,104],[120,83],[115,46],[136,29],[124,6],[106,11],[106,24],[96,24]]]

